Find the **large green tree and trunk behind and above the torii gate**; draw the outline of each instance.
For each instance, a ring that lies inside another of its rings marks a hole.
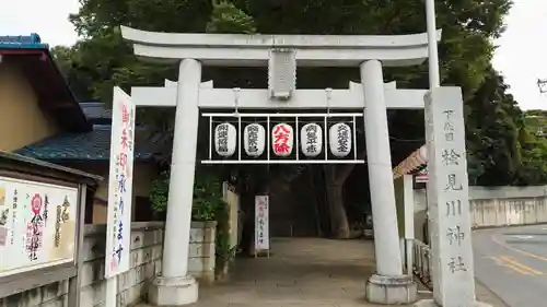
[[[81,3],[80,11],[70,20],[83,39],[69,51],[59,49],[56,54],[59,54],[59,59],[69,55],[70,59],[66,61],[70,64],[61,67],[73,78],[74,84],[86,84],[88,91],[81,93],[103,102],[112,99],[114,84],[128,90],[135,85],[162,84],[165,78],[176,80],[176,68],[143,63],[132,56],[130,46],[120,37],[118,26],[121,24],[146,31],[190,33],[387,35],[426,31],[423,1],[81,0]],[[472,113],[474,93],[488,74],[492,38],[503,31],[503,16],[510,7],[510,0],[437,1],[438,26],[443,29],[440,44],[442,81],[463,87]],[[266,86],[264,70],[206,68],[203,76],[213,79],[217,86]],[[385,76],[389,81],[396,80],[401,87],[428,85],[427,64],[387,69]],[[299,70],[300,87],[346,87],[350,80],[359,81],[357,69]],[[148,117],[158,127],[167,127],[168,130],[170,123],[165,123],[164,115]],[[389,117],[393,135],[423,139],[423,114],[392,111]],[[473,142],[478,141],[474,139]],[[419,145],[395,146],[394,143],[394,162],[399,162]],[[484,158],[480,154],[476,156],[480,161]],[[300,170],[295,167],[291,173],[298,175]],[[333,233],[337,237],[349,236],[342,187],[351,170],[352,166],[325,168],[329,208],[335,219]],[[292,178],[286,177],[289,179],[284,182]]]

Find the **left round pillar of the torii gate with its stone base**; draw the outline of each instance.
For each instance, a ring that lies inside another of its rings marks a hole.
[[[156,306],[189,305],[198,300],[198,285],[188,275],[188,249],[198,141],[198,97],[201,63],[179,63],[175,131],[171,161],[167,219],[163,239],[162,274],[152,281],[149,299]]]

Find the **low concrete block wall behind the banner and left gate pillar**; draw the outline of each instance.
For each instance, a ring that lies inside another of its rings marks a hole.
[[[191,225],[188,270],[205,283],[214,279],[214,225],[197,222]],[[104,225],[86,225],[79,307],[104,306],[105,236]],[[163,223],[146,222],[131,225],[131,268],[118,276],[118,306],[131,306],[146,299],[150,281],[161,272],[162,241]],[[67,294],[68,281],[63,281],[0,298],[0,307],[75,307],[68,306]]]

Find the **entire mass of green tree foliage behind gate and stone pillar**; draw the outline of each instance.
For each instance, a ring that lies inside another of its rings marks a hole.
[[[423,0],[81,0],[81,3],[80,11],[71,15],[70,21],[82,40],[70,48],[58,47],[54,54],[79,98],[103,102],[112,99],[113,85],[129,90],[138,85],[161,85],[164,79],[176,80],[176,67],[138,61],[121,39],[119,25],[173,33],[392,35],[426,32]],[[492,42],[503,32],[503,17],[511,5],[511,0],[435,1],[438,27],[443,31],[439,47],[441,80],[443,85],[463,88],[469,176],[476,185],[547,182],[543,163],[547,145],[526,129],[525,115],[490,63]],[[222,87],[267,85],[266,72],[256,69],[205,68],[203,78],[213,79],[216,86]],[[386,69],[385,79],[397,81],[398,87],[427,88],[427,63]],[[359,71],[357,68],[299,69],[298,80],[299,87],[303,88],[347,87],[348,81],[359,81]],[[165,113],[149,111],[144,118],[166,130],[172,126]],[[389,133],[393,162],[398,163],[423,143],[423,113],[389,111]],[[344,186],[349,173],[341,167],[329,170],[334,174],[327,176],[331,177],[330,186]],[[252,172],[246,174],[253,176]]]

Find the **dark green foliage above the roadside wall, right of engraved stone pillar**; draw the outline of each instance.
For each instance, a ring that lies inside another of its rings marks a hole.
[[[522,111],[503,78],[489,68],[466,103],[469,179],[478,186],[547,184],[543,111]]]

